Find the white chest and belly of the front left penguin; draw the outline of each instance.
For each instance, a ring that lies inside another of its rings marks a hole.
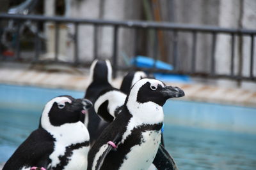
[[[56,130],[58,131],[52,133],[56,141],[54,142],[54,151],[49,156],[51,159],[49,167],[55,168],[61,165],[64,167],[63,169],[86,169],[89,145],[82,144],[87,142],[89,144],[90,137],[84,124],[82,122],[65,124]],[[66,165],[61,162],[61,157],[66,159]],[[77,163],[78,160],[81,160],[79,165],[74,163]],[[77,166],[81,166],[81,168]]]

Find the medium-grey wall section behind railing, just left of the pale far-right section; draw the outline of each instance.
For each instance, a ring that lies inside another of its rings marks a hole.
[[[204,0],[182,0],[173,1],[173,22],[180,24],[193,25],[218,25],[220,1],[204,1]],[[209,71],[209,61],[211,56],[211,35],[198,34],[196,48],[196,69],[198,71]],[[192,35],[186,32],[179,34],[179,50],[180,67],[182,69],[190,69],[192,54]],[[183,62],[188,60],[188,62]],[[202,63],[203,62],[203,63]]]

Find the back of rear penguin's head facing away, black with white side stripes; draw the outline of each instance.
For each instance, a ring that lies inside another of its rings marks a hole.
[[[94,60],[90,67],[89,82],[108,82],[112,81],[112,67],[109,60]]]

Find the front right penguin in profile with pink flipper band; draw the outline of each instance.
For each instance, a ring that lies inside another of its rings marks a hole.
[[[179,87],[143,78],[129,91],[122,111],[104,129],[88,153],[91,169],[148,169],[161,141],[163,105],[184,96]]]

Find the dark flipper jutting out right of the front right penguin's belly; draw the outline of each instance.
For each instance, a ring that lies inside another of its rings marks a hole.
[[[156,153],[156,157],[153,160],[154,166],[157,169],[165,170],[177,170],[177,166],[172,158],[172,156],[167,152],[163,145],[159,145],[159,148]]]

